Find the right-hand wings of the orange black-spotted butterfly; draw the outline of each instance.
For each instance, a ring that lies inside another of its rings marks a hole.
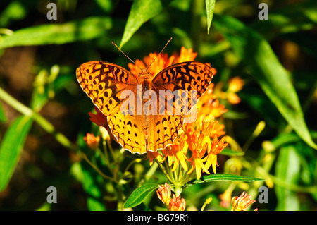
[[[158,94],[161,104],[158,103],[158,114],[152,119],[148,150],[163,149],[173,143],[178,130],[182,128],[184,118],[192,116],[190,110],[211,83],[213,75],[213,69],[206,64],[188,61],[169,66],[154,76],[152,80],[154,90],[158,93],[160,90],[170,90],[175,97],[168,99]],[[191,93],[191,91],[195,92]],[[194,93],[196,95],[192,95]],[[173,109],[171,114],[167,110],[168,107]],[[159,112],[164,108],[165,114],[161,115]]]

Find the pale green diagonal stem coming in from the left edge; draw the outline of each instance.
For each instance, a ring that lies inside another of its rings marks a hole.
[[[32,116],[32,118],[41,126],[44,130],[46,130],[47,133],[50,133],[55,137],[55,139],[64,147],[70,149],[70,150],[77,150],[75,145],[73,145],[68,138],[66,138],[65,135],[62,133],[56,132],[54,126],[49,123],[49,121],[46,120],[43,116],[38,114],[37,112],[33,111],[29,107],[26,107],[24,104],[18,102],[17,99],[13,98],[11,95],[9,95],[6,91],[4,91],[0,87],[0,98],[4,100],[8,105],[19,111],[21,114],[24,114],[25,116]]]

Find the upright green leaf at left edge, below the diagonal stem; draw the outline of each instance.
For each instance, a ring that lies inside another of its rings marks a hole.
[[[6,130],[0,146],[0,191],[6,188],[13,175],[32,121],[30,116],[18,116]]]

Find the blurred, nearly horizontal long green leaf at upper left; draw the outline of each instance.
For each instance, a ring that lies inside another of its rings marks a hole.
[[[111,27],[111,18],[108,17],[89,17],[63,24],[37,25],[17,30],[13,35],[1,38],[0,49],[94,39],[103,36]]]

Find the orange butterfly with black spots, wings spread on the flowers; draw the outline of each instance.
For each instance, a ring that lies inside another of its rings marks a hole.
[[[197,61],[176,63],[156,75],[141,69],[136,76],[105,61],[89,61],[76,70],[80,87],[107,117],[116,141],[138,154],[173,143],[214,73]]]

